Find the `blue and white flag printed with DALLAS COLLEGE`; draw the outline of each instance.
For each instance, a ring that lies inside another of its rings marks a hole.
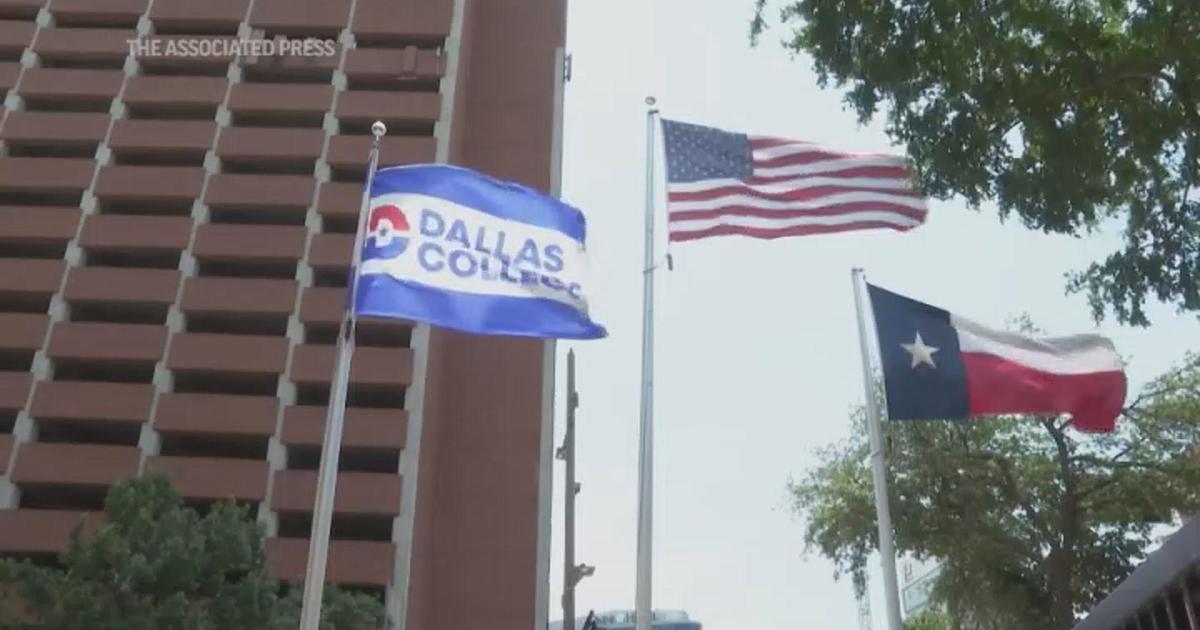
[[[596,338],[583,214],[466,168],[379,169],[355,312],[485,335]]]

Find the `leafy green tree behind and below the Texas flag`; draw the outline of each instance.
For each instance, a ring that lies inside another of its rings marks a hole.
[[[810,550],[862,590],[877,546],[862,410],[850,440],[791,484]],[[974,630],[1067,630],[1156,526],[1200,509],[1200,356],[1160,377],[1109,434],[1054,418],[888,422],[896,548],[942,563],[932,599]]]

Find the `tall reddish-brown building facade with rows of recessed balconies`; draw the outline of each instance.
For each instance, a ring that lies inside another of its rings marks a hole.
[[[0,554],[161,470],[302,578],[370,126],[554,192],[564,37],[565,0],[0,0]],[[358,346],[329,580],[545,628],[552,346]]]

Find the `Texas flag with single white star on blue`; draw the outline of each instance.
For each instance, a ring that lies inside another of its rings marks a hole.
[[[1076,428],[1112,431],[1126,376],[1108,338],[1027,337],[878,287],[868,290],[892,420],[1069,414]]]

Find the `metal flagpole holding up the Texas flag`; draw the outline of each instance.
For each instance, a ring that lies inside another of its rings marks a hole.
[[[900,592],[896,588],[896,553],[892,540],[892,509],[888,502],[887,462],[884,461],[883,426],[880,421],[878,391],[871,370],[871,331],[866,325],[863,293],[866,292],[866,275],[853,269],[851,281],[854,287],[854,310],[858,313],[858,338],[863,350],[863,386],[866,390],[866,426],[871,440],[871,473],[875,478],[875,514],[880,527],[880,563],[883,565],[883,594],[887,600],[888,630],[901,630]]]

